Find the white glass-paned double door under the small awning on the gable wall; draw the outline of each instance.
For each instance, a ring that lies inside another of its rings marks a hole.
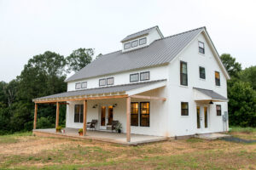
[[[196,127],[200,132],[208,128],[208,107],[206,105],[196,106]]]

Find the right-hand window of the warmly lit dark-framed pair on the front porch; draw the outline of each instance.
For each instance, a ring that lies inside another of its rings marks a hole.
[[[149,102],[141,102],[140,126],[149,127]]]

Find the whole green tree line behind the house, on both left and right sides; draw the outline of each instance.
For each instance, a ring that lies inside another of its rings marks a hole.
[[[66,58],[46,51],[29,59],[15,80],[0,82],[0,134],[32,130],[32,99],[66,92],[67,74],[88,65],[93,55],[92,48],[79,48]],[[231,77],[228,81],[230,124],[256,127],[256,66],[242,70],[230,54],[222,54],[221,59]],[[55,127],[55,105],[38,105],[38,108],[37,127]],[[65,118],[66,105],[61,105],[61,125],[65,125]]]

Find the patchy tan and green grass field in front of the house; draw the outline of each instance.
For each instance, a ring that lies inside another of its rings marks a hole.
[[[230,133],[256,139],[255,129]],[[178,139],[124,146],[16,133],[0,136],[0,169],[256,169],[256,143]]]

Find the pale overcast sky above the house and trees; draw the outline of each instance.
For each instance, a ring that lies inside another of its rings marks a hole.
[[[229,53],[246,68],[256,65],[255,8],[254,0],[0,0],[0,81],[15,79],[45,51],[108,54],[127,35],[152,26],[165,37],[207,26],[218,54]]]

